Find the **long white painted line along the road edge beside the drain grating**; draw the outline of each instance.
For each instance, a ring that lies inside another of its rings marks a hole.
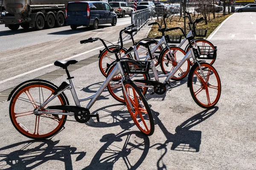
[[[113,42],[113,44],[115,44],[115,43],[117,43],[117,42],[118,42],[118,41]],[[112,44],[108,44],[108,45],[112,45]],[[76,55],[74,55],[74,56],[72,56],[72,57],[68,57],[68,58],[62,59],[62,60],[66,61],[66,60],[69,60],[69,59],[73,59],[73,58],[75,58],[75,57],[79,57],[79,56],[81,56],[81,55],[83,55],[83,54],[90,53],[90,52],[92,52],[92,51],[98,50],[98,49],[103,48],[103,47],[104,47],[104,46],[101,46],[101,47],[98,47],[98,48],[94,48],[94,49],[92,49],[92,50],[90,50],[90,51],[85,51],[85,52],[83,52],[83,53],[76,54]],[[34,70],[31,70],[31,71],[27,71],[26,73],[19,74],[19,75],[14,76],[14,77],[10,77],[10,78],[8,78],[8,79],[4,79],[4,80],[0,81],[0,84],[2,84],[2,83],[4,83],[4,82],[7,82],[7,81],[10,81],[10,80],[12,80],[12,79],[16,79],[16,78],[21,77],[21,76],[25,76],[26,74],[30,74],[30,73],[33,73],[33,72],[35,72],[35,71],[42,70],[42,69],[47,68],[47,67],[52,66],[52,65],[53,65],[53,63],[52,63],[52,64],[45,65],[45,66],[40,67],[40,68],[36,68],[36,69],[34,69]]]

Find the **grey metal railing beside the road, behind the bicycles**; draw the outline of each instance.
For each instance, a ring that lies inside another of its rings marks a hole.
[[[145,25],[150,17],[151,13],[148,9],[133,11],[131,13],[131,24],[134,24],[137,26],[136,29],[140,30],[140,28]]]

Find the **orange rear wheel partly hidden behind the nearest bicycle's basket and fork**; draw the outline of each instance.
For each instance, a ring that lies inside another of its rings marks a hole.
[[[133,59],[132,59],[133,60]],[[108,75],[111,73],[111,71],[113,70],[113,68],[116,66],[116,64],[114,64],[108,71]],[[107,75],[107,77],[108,77]],[[130,74],[131,77],[132,74]],[[116,77],[119,77],[119,79],[117,79]],[[111,80],[110,83],[108,83],[107,89],[109,94],[111,94],[111,96],[116,99],[118,102],[121,103],[125,103],[125,99],[122,96],[122,82],[121,82],[121,74],[116,75],[116,77],[113,77],[113,79]],[[115,78],[115,79],[114,79]],[[136,77],[134,77],[134,79],[145,79],[148,80],[150,79],[149,74],[138,74]],[[143,95],[145,95],[148,91],[147,87],[143,87]]]

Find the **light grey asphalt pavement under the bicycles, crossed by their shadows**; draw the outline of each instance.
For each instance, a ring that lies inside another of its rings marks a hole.
[[[108,91],[104,91],[90,109],[91,113],[99,113],[100,122],[95,119],[86,124],[66,122],[64,130],[44,141],[20,135],[10,121],[9,102],[0,103],[0,169],[255,170],[255,23],[256,13],[236,13],[209,37],[218,47],[214,67],[222,85],[221,98],[213,109],[204,110],[195,104],[186,85],[187,79],[172,82],[172,88],[161,96],[146,95],[154,116],[155,132],[152,136],[140,133],[124,105],[116,102]],[[115,28],[112,32],[102,28],[103,34],[87,32],[108,36],[114,42],[121,27],[109,27]],[[137,38],[145,36],[148,29],[145,26]],[[74,35],[69,44],[80,39]],[[78,44],[71,46],[70,51],[65,47],[60,49],[65,57],[70,56],[73,48],[78,52],[92,49],[89,46],[82,50]],[[51,52],[44,60],[56,58],[49,46],[44,48],[44,55]],[[97,52],[86,55],[90,57]],[[76,59],[82,58],[85,57]],[[31,70],[34,66],[22,69],[31,67],[28,69]],[[12,83],[17,85],[51,69],[58,68],[36,71],[2,83],[0,88],[7,88]],[[97,62],[77,69],[71,75],[75,76],[79,97],[90,96],[105,80]],[[63,76],[52,82],[60,85],[65,80]],[[69,92],[67,96],[73,105]],[[68,119],[73,120],[73,117]]]

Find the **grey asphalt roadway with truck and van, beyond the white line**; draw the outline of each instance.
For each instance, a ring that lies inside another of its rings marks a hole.
[[[65,26],[41,31],[34,31],[32,28],[24,31],[21,27],[17,31],[11,31],[0,25],[5,30],[0,31],[0,81],[51,64],[57,59],[65,59],[102,46],[101,42],[81,45],[80,40],[101,37],[116,42],[119,30],[130,23],[131,17],[125,17],[118,18],[116,26],[100,25],[97,30],[91,30],[90,27],[71,30],[70,26]]]

